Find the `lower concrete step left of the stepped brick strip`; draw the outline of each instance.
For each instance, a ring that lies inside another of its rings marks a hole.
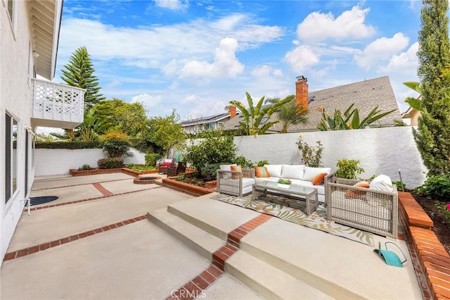
[[[208,261],[212,261],[212,254],[225,244],[223,240],[167,212],[165,208],[148,212],[147,218]]]

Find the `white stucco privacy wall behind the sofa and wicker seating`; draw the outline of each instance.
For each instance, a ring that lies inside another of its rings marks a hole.
[[[299,135],[309,145],[316,141],[323,144],[323,166],[338,170],[341,158],[357,159],[365,172],[359,175],[369,178],[385,174],[392,181],[399,181],[399,172],[407,187],[418,187],[425,181],[427,169],[413,139],[412,127],[368,128],[361,130],[318,131],[235,137],[238,155],[254,161],[266,160],[271,164],[302,163],[297,148]]]

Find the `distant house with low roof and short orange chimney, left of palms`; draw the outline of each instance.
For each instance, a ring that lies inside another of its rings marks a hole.
[[[236,107],[227,106],[227,108],[228,113],[182,121],[181,127],[183,127],[184,132],[186,133],[197,133],[203,130],[221,128],[226,121],[236,117]]]

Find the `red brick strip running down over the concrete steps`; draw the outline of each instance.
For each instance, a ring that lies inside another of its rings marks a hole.
[[[187,282],[183,287],[174,289],[166,300],[201,298],[205,289],[210,287],[217,278],[225,273],[225,261],[238,251],[240,248],[240,239],[271,218],[272,215],[261,213],[229,232],[226,244],[212,254],[212,265],[200,273],[200,275]]]

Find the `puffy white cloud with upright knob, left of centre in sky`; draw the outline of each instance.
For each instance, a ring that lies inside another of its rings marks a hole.
[[[238,41],[226,37],[215,51],[214,62],[188,61],[179,71],[180,77],[235,77],[244,70],[236,58]]]

